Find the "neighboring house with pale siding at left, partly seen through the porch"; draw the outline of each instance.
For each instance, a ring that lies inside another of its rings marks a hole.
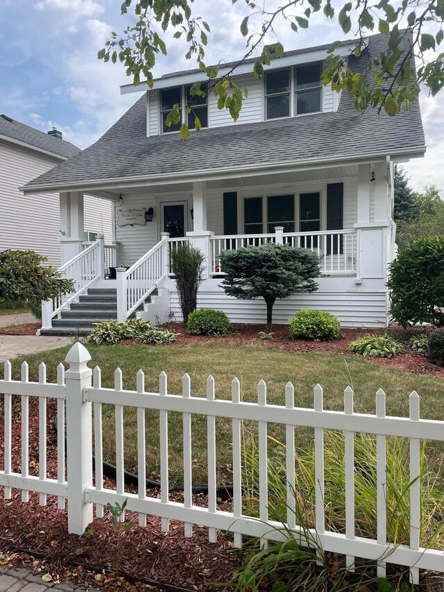
[[[1,251],[31,249],[48,257],[48,264],[60,265],[60,242],[66,237],[60,225],[58,194],[24,196],[19,187],[79,153],[56,129],[46,134],[0,115]],[[107,242],[112,242],[113,218],[110,201],[86,196],[82,239],[103,232]]]

